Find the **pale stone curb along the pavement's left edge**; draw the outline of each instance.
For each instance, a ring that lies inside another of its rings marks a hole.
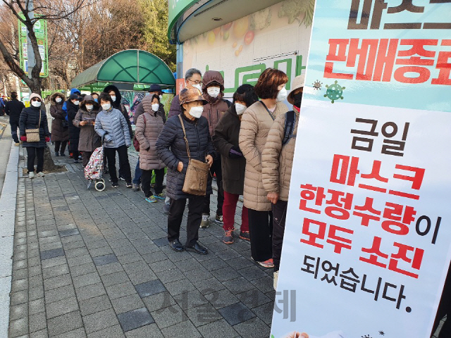
[[[19,149],[20,147],[11,142],[11,153],[0,196],[0,337],[8,337]]]

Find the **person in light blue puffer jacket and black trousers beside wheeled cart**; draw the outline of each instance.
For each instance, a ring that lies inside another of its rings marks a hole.
[[[100,137],[104,137],[104,154],[108,158],[111,185],[119,187],[116,175],[116,152],[119,156],[119,168],[122,168],[125,182],[128,188],[132,187],[132,175],[128,162],[127,148],[132,144],[127,120],[123,113],[113,108],[113,100],[107,93],[99,95],[102,111],[97,114],[94,130]]]

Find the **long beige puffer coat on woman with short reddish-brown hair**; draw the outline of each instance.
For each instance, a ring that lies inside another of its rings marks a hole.
[[[287,111],[287,106],[278,102],[273,115],[277,117]],[[256,211],[271,211],[271,202],[266,199],[261,181],[261,153],[272,125],[273,119],[260,101],[252,104],[242,115],[240,149],[246,158],[243,199],[246,208]]]

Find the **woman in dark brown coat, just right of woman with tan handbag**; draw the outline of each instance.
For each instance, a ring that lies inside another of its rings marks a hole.
[[[63,104],[66,96],[56,92],[50,96],[50,115],[54,118],[51,121],[51,141],[55,142],[55,156],[66,156],[66,146],[69,141],[68,121],[66,112],[63,111]]]

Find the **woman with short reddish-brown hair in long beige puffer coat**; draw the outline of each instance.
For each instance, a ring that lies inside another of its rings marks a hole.
[[[282,103],[287,98],[288,76],[281,70],[268,68],[261,73],[255,92],[260,101],[247,108],[241,120],[240,149],[246,158],[244,204],[249,209],[251,253],[264,268],[273,268],[271,202],[261,180],[261,153],[274,120],[286,113]]]

